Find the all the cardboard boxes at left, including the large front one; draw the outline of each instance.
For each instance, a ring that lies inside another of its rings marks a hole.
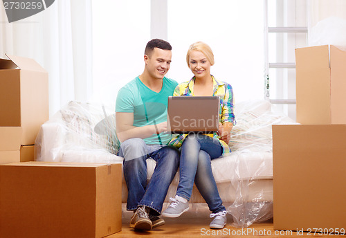
[[[35,162],[48,73],[0,59],[0,237],[105,237],[121,230],[121,164]],[[25,162],[27,161],[27,162]]]

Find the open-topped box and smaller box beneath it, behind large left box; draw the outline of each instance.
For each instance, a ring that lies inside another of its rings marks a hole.
[[[24,57],[0,59],[0,164],[33,161],[39,127],[48,120],[48,73]]]

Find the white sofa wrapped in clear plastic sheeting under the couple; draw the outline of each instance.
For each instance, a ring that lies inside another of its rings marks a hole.
[[[117,156],[114,107],[99,103],[69,102],[42,125],[35,141],[35,160],[75,163],[122,163]],[[271,126],[295,124],[266,100],[235,104],[237,125],[229,146],[232,153],[212,160],[212,172],[232,225],[239,228],[273,217],[273,149]],[[147,160],[148,180],[155,161]],[[179,183],[177,172],[167,192],[174,197]],[[122,176],[122,202],[127,186]],[[167,203],[168,204],[168,203]],[[206,203],[196,187],[190,199],[192,210]],[[165,207],[164,207],[165,208]]]

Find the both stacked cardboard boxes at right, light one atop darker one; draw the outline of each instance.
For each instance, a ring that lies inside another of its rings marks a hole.
[[[346,52],[297,48],[297,122],[273,126],[274,229],[346,228]]]

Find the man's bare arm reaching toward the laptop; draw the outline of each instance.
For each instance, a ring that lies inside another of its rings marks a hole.
[[[134,113],[116,113],[116,134],[120,142],[124,142],[130,138],[148,138],[152,134],[160,134],[166,130],[167,122],[162,122],[157,125],[134,127]]]

